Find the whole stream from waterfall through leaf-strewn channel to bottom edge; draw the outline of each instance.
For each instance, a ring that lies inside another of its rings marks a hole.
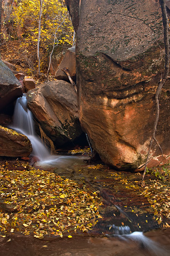
[[[20,117],[20,118],[18,118]],[[126,180],[141,180],[140,173],[116,172],[99,165],[88,164],[88,156],[51,156],[34,131],[33,117],[27,109],[27,97],[17,100],[12,129],[27,135],[38,158],[35,167],[86,184],[102,197],[102,219],[87,233],[73,238],[11,234],[0,238],[0,255],[60,255],[60,256],[119,256],[170,255],[170,230],[160,229],[153,211],[139,190]],[[153,231],[150,231],[153,230]]]

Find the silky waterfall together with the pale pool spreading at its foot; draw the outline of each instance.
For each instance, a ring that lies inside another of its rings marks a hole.
[[[13,125],[11,129],[22,133],[28,137],[31,142],[33,152],[31,156],[36,156],[39,165],[56,167],[71,166],[73,162],[77,164],[82,162],[83,159],[87,157],[79,156],[56,156],[51,155],[50,150],[48,150],[42,143],[41,139],[36,135],[34,128],[34,121],[31,111],[27,108],[27,96],[23,94],[22,97],[18,98],[15,103],[14,115],[13,115]]]

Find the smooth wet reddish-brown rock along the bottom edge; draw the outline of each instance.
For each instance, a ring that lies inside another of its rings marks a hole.
[[[38,240],[31,236],[10,235],[0,238],[2,256],[167,256],[170,231],[161,230],[145,234],[159,242],[159,251],[149,252],[140,243],[119,238],[75,237]],[[159,238],[162,239],[159,239]],[[9,241],[9,242],[7,242]],[[158,244],[157,244],[158,245]],[[153,249],[154,250],[154,249]],[[162,254],[161,254],[162,253]]]

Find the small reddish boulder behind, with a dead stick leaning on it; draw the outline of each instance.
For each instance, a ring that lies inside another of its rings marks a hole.
[[[63,68],[68,68],[69,74],[72,80],[75,81],[76,79],[76,53],[75,53],[75,46],[69,48],[64,55],[58,69],[55,73],[55,78],[58,80],[64,80],[69,82],[68,76],[61,70]]]

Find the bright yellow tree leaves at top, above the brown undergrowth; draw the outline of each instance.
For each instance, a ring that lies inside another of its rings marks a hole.
[[[74,31],[64,2],[59,0],[43,0],[43,13],[41,19],[41,45],[46,49],[53,43],[54,34],[59,44],[64,44],[66,36],[67,43],[72,44],[72,33]],[[22,0],[14,6],[15,27],[24,28],[23,37],[27,40],[37,41],[39,1]],[[62,41],[60,39],[62,38]]]

